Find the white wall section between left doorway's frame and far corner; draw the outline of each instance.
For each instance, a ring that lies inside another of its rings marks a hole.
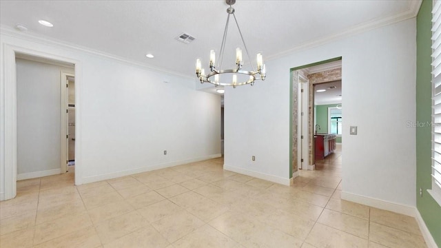
[[[113,61],[88,59],[84,68],[84,178],[220,154],[220,96]]]

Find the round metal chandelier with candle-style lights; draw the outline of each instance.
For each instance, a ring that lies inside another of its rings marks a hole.
[[[216,54],[214,50],[211,50],[209,53],[209,74],[205,74],[205,70],[201,67],[201,59],[196,59],[196,76],[198,77],[199,81],[201,83],[212,83],[214,86],[239,86],[239,85],[254,85],[254,81],[256,80],[265,80],[266,76],[266,69],[265,64],[263,63],[262,54],[257,54],[257,70],[254,70],[254,67],[251,63],[251,59],[249,59],[249,54],[247,50],[247,45],[245,45],[245,41],[242,36],[242,32],[240,32],[239,24],[236,19],[236,15],[234,14],[234,8],[232,8],[232,5],[236,3],[236,0],[225,0],[225,2],[229,5],[229,8],[227,8],[227,23],[225,24],[225,31],[223,33],[223,39],[222,39],[222,45],[220,45],[220,63],[218,63],[217,67],[215,65],[216,61]],[[228,23],[229,23],[229,17],[233,15],[234,21],[236,21],[236,26],[238,28],[240,39],[242,39],[243,48],[245,48],[245,53],[247,54],[247,58],[249,60],[249,63],[251,65],[251,71],[242,70],[243,66],[243,59],[242,59],[242,50],[240,48],[236,48],[236,68],[234,69],[227,69],[223,70],[222,63],[223,63],[223,56],[225,52],[225,40],[227,39],[227,32],[228,32]],[[218,68],[218,69],[217,69]],[[223,83],[219,81],[220,74],[232,74],[232,81],[231,83]],[[243,81],[238,81],[238,76],[240,79],[243,79]]]

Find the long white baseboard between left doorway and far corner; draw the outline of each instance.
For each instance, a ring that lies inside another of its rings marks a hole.
[[[129,176],[129,175],[143,173],[143,172],[150,172],[155,169],[164,169],[164,168],[173,167],[176,165],[185,165],[187,163],[205,161],[207,159],[219,158],[220,156],[222,156],[222,154],[212,154],[212,155],[207,155],[207,156],[203,156],[203,157],[199,157],[199,158],[190,158],[190,159],[186,159],[183,161],[174,161],[174,162],[170,162],[170,163],[151,165],[151,166],[147,166],[147,167],[139,167],[136,169],[128,169],[128,170],[119,171],[119,172],[111,172],[111,173],[101,174],[101,175],[96,175],[96,176],[88,176],[88,177],[82,178],[83,179],[82,183],[83,184],[84,183],[94,183],[94,182],[98,182],[101,180],[109,180],[112,178],[119,178],[121,176]]]

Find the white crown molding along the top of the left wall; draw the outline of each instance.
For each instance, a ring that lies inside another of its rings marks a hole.
[[[54,38],[50,38],[50,37],[43,37],[42,35],[39,34],[34,34],[32,32],[19,32],[17,30],[14,30],[13,28],[10,28],[6,25],[0,24],[0,34],[4,34],[4,35],[8,35],[10,37],[14,37],[14,38],[18,38],[18,39],[24,39],[26,41],[31,41],[31,42],[35,42],[35,43],[40,43],[43,45],[50,45],[53,46],[55,48],[61,48],[61,49],[66,49],[66,50],[71,50],[74,52],[84,52],[86,54],[93,54],[96,56],[103,56],[106,59],[112,59],[115,61],[119,61],[120,63],[124,63],[126,65],[131,65],[131,66],[136,66],[138,68],[143,68],[145,70],[152,70],[155,72],[161,72],[161,73],[165,73],[165,74],[170,74],[173,76],[180,76],[183,77],[185,79],[191,79],[192,81],[194,81],[194,77],[193,76],[189,76],[187,74],[180,74],[180,73],[176,73],[176,72],[172,72],[169,70],[164,70],[163,68],[157,68],[154,66],[150,66],[150,65],[145,65],[143,63],[139,63],[136,61],[130,61],[127,59],[123,59],[120,56],[116,56],[114,54],[109,54],[106,52],[102,52],[99,50],[93,50],[91,48],[86,48],[84,46],[81,45],[76,45],[74,43],[68,43],[65,41],[60,41],[58,39],[54,39]]]

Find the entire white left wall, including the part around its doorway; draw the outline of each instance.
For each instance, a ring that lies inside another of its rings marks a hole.
[[[11,50],[75,63],[76,184],[220,156],[220,96],[196,91],[194,79],[12,30],[0,35],[0,197],[12,192]]]

